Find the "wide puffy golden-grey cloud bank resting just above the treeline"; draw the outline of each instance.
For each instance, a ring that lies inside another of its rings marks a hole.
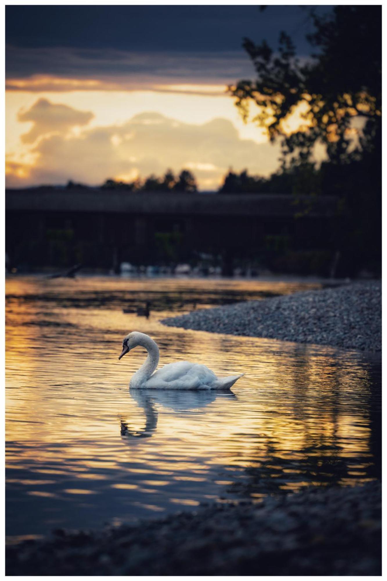
[[[49,130],[49,126],[48,126]],[[214,189],[232,160],[235,170],[268,175],[277,166],[279,148],[239,138],[234,125],[214,119],[202,125],[181,123],[159,113],[138,114],[123,125],[85,129],[76,137],[43,137],[28,178],[10,171],[8,186],[60,184],[69,179],[101,184],[106,178],[162,174],[187,167],[202,189]]]

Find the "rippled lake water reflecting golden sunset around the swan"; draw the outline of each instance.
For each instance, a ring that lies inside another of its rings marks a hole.
[[[379,358],[159,323],[194,308],[318,286],[8,279],[9,541],[378,478]],[[148,319],[123,313],[146,301]],[[227,393],[130,391],[145,350],[118,356],[134,330],[156,340],[161,365],[188,360],[219,375],[246,375]]]

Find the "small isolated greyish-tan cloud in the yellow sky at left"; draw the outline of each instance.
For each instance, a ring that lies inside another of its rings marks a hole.
[[[21,137],[26,144],[34,143],[38,137],[52,131],[66,132],[71,127],[87,125],[93,117],[94,114],[89,111],[79,111],[47,99],[39,99],[30,109],[17,115],[19,121],[33,122],[31,130]]]

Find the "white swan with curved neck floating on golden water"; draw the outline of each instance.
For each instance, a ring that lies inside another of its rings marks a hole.
[[[133,331],[123,340],[123,357],[131,349],[141,345],[148,351],[148,357],[130,380],[131,388],[146,389],[230,389],[237,379],[244,375],[217,377],[206,365],[179,361],[169,363],[153,373],[159,363],[159,347],[149,335]]]

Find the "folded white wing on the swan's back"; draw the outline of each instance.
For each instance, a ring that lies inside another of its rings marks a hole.
[[[217,376],[206,365],[178,361],[157,370],[146,382],[146,388],[162,389],[209,389]]]

